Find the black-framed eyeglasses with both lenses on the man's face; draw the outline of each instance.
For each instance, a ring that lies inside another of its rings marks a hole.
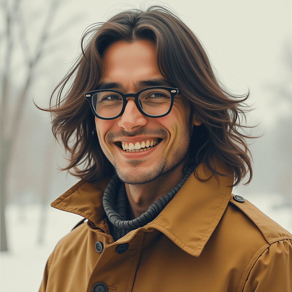
[[[114,89],[101,89],[84,93],[96,117],[112,120],[120,117],[126,108],[127,98],[134,97],[140,113],[150,118],[164,117],[171,112],[178,88],[152,86],[137,93],[122,93]]]

